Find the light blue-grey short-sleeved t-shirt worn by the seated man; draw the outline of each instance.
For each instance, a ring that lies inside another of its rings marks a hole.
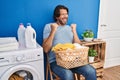
[[[50,24],[46,24],[44,27],[43,39],[48,38],[51,32]],[[72,43],[72,42],[73,42],[73,33],[71,27],[69,25],[58,26],[53,39],[52,47],[57,45],[58,43],[64,44],[64,43]],[[52,51],[48,53],[48,56],[50,63],[56,61],[55,54]]]

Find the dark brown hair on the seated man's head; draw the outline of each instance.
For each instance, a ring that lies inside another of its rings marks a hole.
[[[57,5],[56,8],[54,9],[54,14],[53,14],[53,19],[57,21],[56,17],[60,16],[60,9],[66,9],[67,13],[69,13],[69,10],[66,6],[64,5]]]

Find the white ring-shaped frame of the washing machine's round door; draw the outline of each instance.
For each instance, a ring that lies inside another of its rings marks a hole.
[[[30,65],[17,65],[17,66],[13,66],[11,68],[9,68],[2,76],[1,76],[1,80],[8,80],[9,77],[15,73],[16,71],[19,70],[25,70],[25,71],[29,71],[30,73],[32,73],[33,76],[33,80],[43,80],[41,79],[41,75],[40,73],[38,73],[38,71],[33,68]]]

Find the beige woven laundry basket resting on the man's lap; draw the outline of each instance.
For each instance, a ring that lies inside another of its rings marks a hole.
[[[89,47],[81,47],[74,50],[56,51],[57,65],[66,69],[86,65],[88,64],[88,50]]]

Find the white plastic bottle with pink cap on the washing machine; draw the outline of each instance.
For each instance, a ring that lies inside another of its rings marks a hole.
[[[25,27],[23,23],[19,24],[17,34],[18,34],[19,47],[25,48]]]

